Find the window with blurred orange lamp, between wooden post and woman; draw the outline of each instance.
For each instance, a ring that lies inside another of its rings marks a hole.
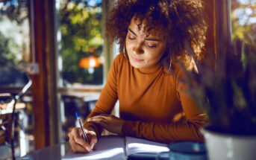
[[[60,141],[77,126],[75,112],[86,118],[96,104],[104,83],[102,0],[58,0],[57,45]]]

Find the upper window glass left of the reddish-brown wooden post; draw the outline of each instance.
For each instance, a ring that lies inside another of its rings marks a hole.
[[[24,86],[30,62],[28,1],[0,1],[0,86]]]

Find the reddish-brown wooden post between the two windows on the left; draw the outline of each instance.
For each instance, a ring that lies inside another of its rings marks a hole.
[[[32,7],[30,14],[34,17],[31,19],[31,23],[33,23],[31,26],[34,27],[34,33],[31,33],[34,36],[34,42],[31,44],[34,45],[34,60],[39,64],[39,73],[31,76],[33,81],[35,150],[38,150],[50,144],[48,71],[46,66],[47,55],[49,55],[49,51],[46,49],[48,48],[46,42],[47,8],[46,0],[31,0],[30,3]]]

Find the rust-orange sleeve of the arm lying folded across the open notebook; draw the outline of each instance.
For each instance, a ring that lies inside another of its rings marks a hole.
[[[180,73],[178,73],[180,74]],[[153,121],[126,121],[122,127],[123,135],[146,138],[161,143],[174,141],[204,141],[199,129],[205,124],[205,114],[198,109],[194,100],[187,94],[187,87],[176,74],[176,90],[184,111],[185,121],[155,123]]]

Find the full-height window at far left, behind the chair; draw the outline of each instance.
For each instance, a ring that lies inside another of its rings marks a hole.
[[[0,114],[12,112],[7,106],[30,80],[25,68],[31,63],[28,0],[0,1]],[[3,94],[4,93],[4,94]],[[34,150],[34,116],[31,91],[16,103],[19,117],[14,118],[16,132],[13,140],[16,156]],[[9,153],[1,147],[0,159]],[[7,159],[7,158],[6,158]]]

